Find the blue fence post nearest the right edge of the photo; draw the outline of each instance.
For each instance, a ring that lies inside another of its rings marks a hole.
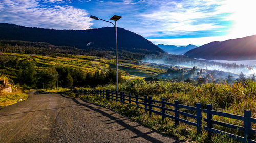
[[[244,110],[244,139],[246,142],[251,142],[251,110]]]

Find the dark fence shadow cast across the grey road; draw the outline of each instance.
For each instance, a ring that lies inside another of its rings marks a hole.
[[[63,95],[62,95],[62,96],[63,96]],[[66,97],[66,98],[69,98],[69,97]],[[106,123],[106,124],[118,123],[119,125],[121,125],[121,126],[124,127],[124,129],[121,129],[121,130],[130,130],[130,131],[134,132],[134,133],[136,134],[136,136],[134,136],[134,137],[132,137],[132,138],[142,137],[142,138],[144,138],[144,139],[146,139],[146,140],[148,140],[148,141],[150,141],[150,142],[162,142],[162,141],[160,141],[160,140],[158,140],[158,139],[156,139],[156,138],[151,137],[151,136],[148,135],[148,134],[151,134],[151,133],[154,133],[154,132],[156,132],[156,133],[158,133],[158,134],[162,134],[162,133],[160,133],[160,132],[157,132],[157,131],[150,131],[150,132],[147,132],[147,133],[143,133],[143,132],[141,132],[140,130],[138,130],[138,129],[135,128],[135,127],[138,127],[138,126],[141,126],[141,125],[131,126],[131,125],[129,125],[129,124],[123,122],[124,120],[127,120],[127,119],[116,118],[116,117],[112,116],[114,113],[109,114],[109,113],[106,113],[106,112],[104,112],[104,111],[101,111],[99,108],[90,106],[90,105],[92,105],[92,104],[93,104],[94,106],[98,106],[97,104],[94,104],[94,103],[91,103],[91,102],[88,102],[88,101],[86,101],[86,100],[81,99],[82,101],[84,101],[84,102],[86,102],[86,103],[89,103],[89,104],[83,104],[83,103],[79,102],[76,98],[71,98],[71,99],[72,99],[75,103],[77,103],[77,104],[79,104],[79,105],[82,105],[82,106],[84,106],[84,107],[87,107],[87,108],[89,108],[90,110],[94,110],[95,112],[100,113],[102,116],[106,116],[106,117],[110,118],[110,120],[108,120],[108,121],[113,120],[113,122],[111,122],[111,123]],[[101,117],[101,116],[98,116],[98,117]],[[162,135],[165,136],[164,134],[162,134]]]

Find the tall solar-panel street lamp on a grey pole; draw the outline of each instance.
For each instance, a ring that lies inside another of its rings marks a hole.
[[[110,22],[110,21],[106,21],[106,20],[100,19],[100,18],[98,18],[96,16],[92,16],[92,15],[90,16],[90,18],[93,18],[95,20],[102,20],[102,21],[105,21],[105,22],[109,22],[109,23],[113,24],[114,27],[115,27],[115,32],[116,32],[116,91],[118,93],[118,62],[117,62],[118,61],[118,55],[117,55],[117,27],[116,27],[116,21],[119,20],[120,18],[122,18],[122,16],[114,15],[110,18],[110,20],[115,21],[115,24]]]

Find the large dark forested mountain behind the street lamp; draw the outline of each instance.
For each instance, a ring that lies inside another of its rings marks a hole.
[[[118,49],[120,51],[143,54],[165,53],[155,44],[131,31],[117,28],[117,34]],[[0,39],[47,42],[55,46],[107,50],[113,51],[113,53],[116,47],[113,27],[89,30],[53,30],[0,23]]]

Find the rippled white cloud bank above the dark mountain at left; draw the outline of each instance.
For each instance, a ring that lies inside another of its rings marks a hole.
[[[4,23],[74,30],[88,29],[92,25],[88,13],[73,6],[45,6],[35,0],[4,0],[0,7],[3,7],[0,22]]]

